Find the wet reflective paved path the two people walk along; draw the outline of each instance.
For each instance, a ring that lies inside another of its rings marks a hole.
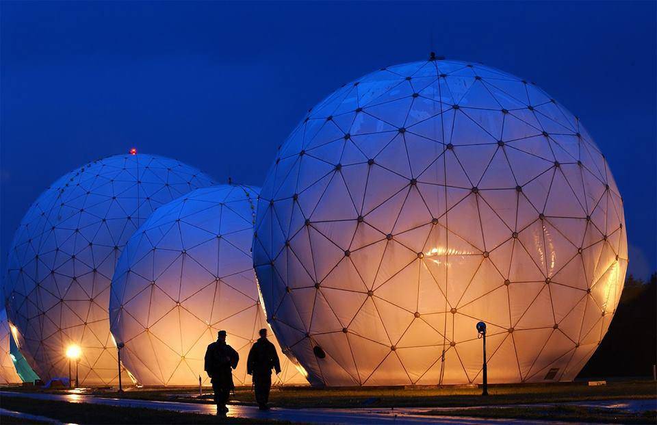
[[[44,394],[0,391],[0,397],[27,397],[37,400],[58,400],[73,403],[105,404],[117,407],[142,407],[146,409],[161,409],[167,411],[178,411],[184,413],[203,413],[214,415],[216,407],[214,404],[186,403],[186,402],[164,402],[151,400],[131,400],[128,398],[101,398],[85,394]],[[569,403],[578,406],[602,407],[609,409],[624,409],[628,411],[645,411],[656,409],[657,400],[608,400],[601,402],[574,402]],[[516,404],[515,406],[527,406],[528,404]],[[554,404],[531,404],[534,407],[548,407]],[[498,406],[512,407],[512,406]],[[567,422],[540,422],[528,420],[509,419],[486,419],[480,417],[455,417],[455,416],[427,416],[422,415],[426,411],[454,409],[437,407],[415,407],[415,408],[359,408],[359,409],[279,409],[272,408],[270,411],[260,411],[255,406],[229,405],[228,416],[248,417],[252,419],[287,420],[291,422],[305,422],[315,424],[566,424]],[[470,407],[469,409],[476,409]]]

